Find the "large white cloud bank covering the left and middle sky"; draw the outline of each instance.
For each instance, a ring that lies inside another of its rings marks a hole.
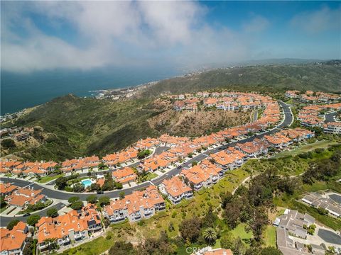
[[[250,54],[254,33],[269,25],[254,16],[244,31],[213,28],[205,22],[207,8],[192,1],[26,1],[1,8],[6,13],[1,17],[1,68],[13,72],[242,61]],[[27,13],[38,14],[53,28],[66,24],[77,42],[40,30]]]

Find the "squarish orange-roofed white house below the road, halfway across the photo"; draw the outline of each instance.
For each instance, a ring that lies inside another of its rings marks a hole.
[[[171,179],[163,181],[159,188],[161,193],[166,194],[173,204],[180,203],[183,198],[193,198],[192,189],[181,181],[178,176],[173,176]]]

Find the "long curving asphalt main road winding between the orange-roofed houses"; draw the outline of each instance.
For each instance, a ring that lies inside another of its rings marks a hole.
[[[264,135],[271,135],[271,134],[274,134],[274,132],[281,130],[282,128],[288,127],[288,125],[290,125],[292,120],[293,120],[293,115],[290,111],[289,105],[287,105],[286,103],[283,103],[283,102],[279,102],[279,104],[282,106],[283,112],[284,112],[284,120],[283,120],[283,123],[281,123],[281,125],[278,125],[278,127],[274,128],[274,130],[269,130],[269,131],[267,131],[261,135],[254,135],[253,137],[247,137],[244,140],[240,140],[239,142],[249,142],[251,140],[254,140],[255,137],[261,138],[261,137],[264,137]],[[181,164],[180,165],[181,168],[172,169],[171,171],[168,171],[167,174],[164,174],[163,176],[160,176],[156,179],[153,179],[153,181],[148,181],[145,183],[141,183],[138,186],[126,188],[126,189],[124,189],[124,193],[126,195],[131,194],[134,191],[138,191],[138,190],[146,188],[147,186],[151,185],[151,183],[153,185],[158,186],[159,184],[162,183],[162,181],[164,179],[170,179],[172,176],[180,174],[180,171],[182,171],[183,168],[191,166],[191,164],[193,162],[200,162],[203,159],[207,158],[209,154],[219,152],[220,150],[226,149],[227,147],[231,147],[231,146],[233,147],[236,143],[237,142],[230,142],[227,145],[222,145],[220,147],[210,149],[209,151],[205,152],[204,154],[199,154],[196,157],[193,157],[193,159],[190,159],[188,162]],[[158,150],[158,153],[162,152],[162,148],[163,148],[163,150],[165,150],[167,147],[161,147],[161,149]],[[36,183],[32,183],[30,181],[23,181],[23,180],[19,180],[19,179],[11,179],[11,178],[6,178],[6,177],[1,178],[1,181],[4,181],[4,183],[11,182],[11,183],[14,183],[15,185],[21,186],[21,187],[29,185],[29,186],[33,186],[33,188],[35,188],[35,189],[43,188],[42,193],[44,195],[48,196],[48,198],[56,198],[56,199],[61,199],[61,200],[67,200],[68,198],[70,198],[72,196],[78,196],[80,198],[80,200],[85,201],[87,196],[89,196],[91,194],[91,193],[67,193],[64,191],[56,191],[56,190],[53,190],[52,188],[51,189],[50,188],[44,188],[43,186],[40,186],[39,184],[36,184]],[[104,193],[104,195],[98,195],[98,197],[109,196],[109,198],[118,198],[119,193],[121,193],[120,190],[106,191]],[[1,225],[2,225],[2,222],[1,222]]]

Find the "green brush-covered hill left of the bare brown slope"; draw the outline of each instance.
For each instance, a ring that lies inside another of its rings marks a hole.
[[[38,160],[104,155],[141,137],[158,135],[146,123],[155,114],[146,100],[114,102],[72,95],[55,98],[13,123],[40,126],[45,137],[39,147],[17,155]]]

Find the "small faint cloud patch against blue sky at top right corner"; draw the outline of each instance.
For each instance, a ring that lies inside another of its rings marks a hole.
[[[325,30],[341,30],[341,8],[331,10],[323,7],[318,11],[298,13],[291,19],[291,25],[308,33],[320,33]]]

